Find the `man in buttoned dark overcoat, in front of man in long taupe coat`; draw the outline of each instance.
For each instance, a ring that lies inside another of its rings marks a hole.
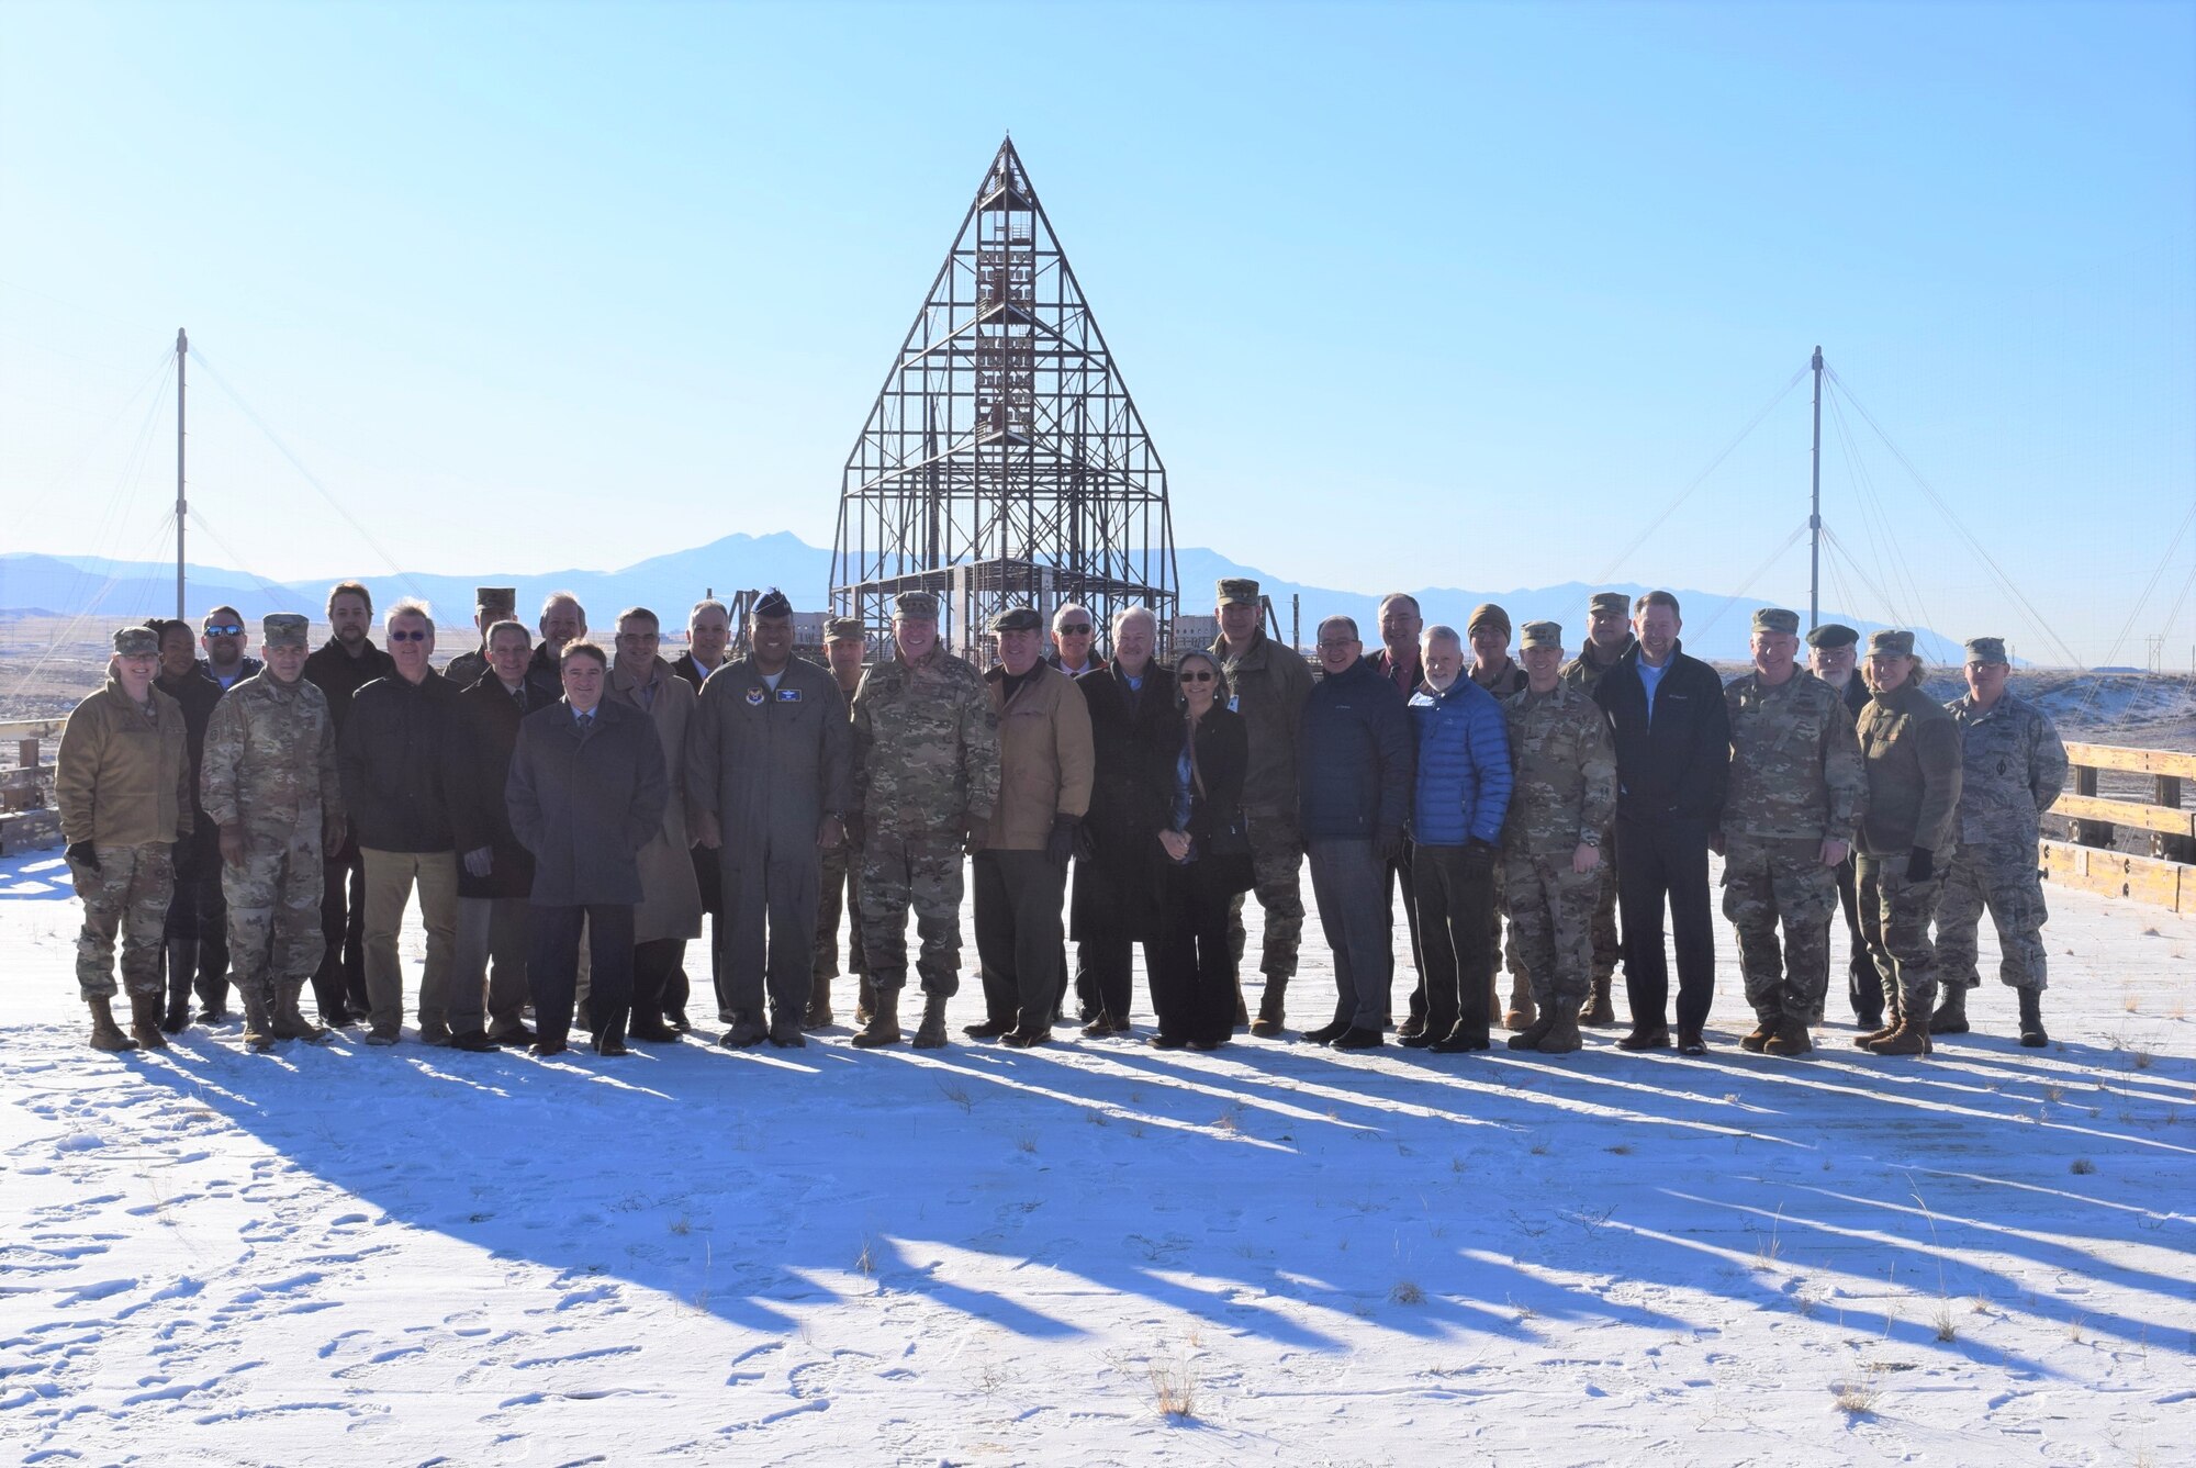
[[[582,925],[595,1055],[624,1055],[639,855],[663,826],[672,782],[654,721],[632,703],[602,697],[610,657],[575,637],[558,666],[564,697],[518,723],[503,787],[512,831],[534,853],[527,905],[527,985],[540,1031],[534,1055],[569,1048]]]

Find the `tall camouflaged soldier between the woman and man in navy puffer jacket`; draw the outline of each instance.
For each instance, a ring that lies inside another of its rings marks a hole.
[[[1296,976],[1296,949],[1304,938],[1304,831],[1298,824],[1296,738],[1311,697],[1311,668],[1296,648],[1285,648],[1258,626],[1263,602],[1258,582],[1228,576],[1219,582],[1221,635],[1212,657],[1221,661],[1232,690],[1228,708],[1239,712],[1250,734],[1250,769],[1243,776],[1243,826],[1250,835],[1252,892],[1265,908],[1265,996],[1250,1033],[1271,1039],[1285,1024],[1282,996]],[[1228,910],[1228,947],[1243,965],[1243,897]]]

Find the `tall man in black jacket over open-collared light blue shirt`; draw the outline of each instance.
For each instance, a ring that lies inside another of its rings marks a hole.
[[[1715,998],[1708,916],[1708,837],[1724,815],[1730,716],[1724,679],[1678,642],[1678,598],[1634,602],[1638,644],[1599,683],[1594,703],[1616,727],[1616,908],[1623,916],[1625,1050],[1669,1048],[1669,960],[1662,905],[1678,945],[1678,1050],[1706,1055],[1702,1026]]]

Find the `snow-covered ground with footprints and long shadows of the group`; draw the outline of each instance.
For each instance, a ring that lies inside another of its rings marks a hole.
[[[2051,899],[2055,1044],[1930,1061],[1741,1055],[1728,934],[1706,1061],[105,1057],[7,859],[0,1450],[2185,1464],[2196,923]]]

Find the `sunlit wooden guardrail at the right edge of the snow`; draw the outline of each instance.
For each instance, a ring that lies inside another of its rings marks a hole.
[[[2196,811],[2181,807],[2181,782],[2196,780],[2196,754],[2066,745],[2066,760],[2071,789],[2049,813],[2071,822],[2071,839],[2042,842],[2044,881],[2196,912]],[[2099,796],[2099,771],[2148,776],[2150,800]],[[2115,828],[2148,833],[2148,855],[2115,850]]]

